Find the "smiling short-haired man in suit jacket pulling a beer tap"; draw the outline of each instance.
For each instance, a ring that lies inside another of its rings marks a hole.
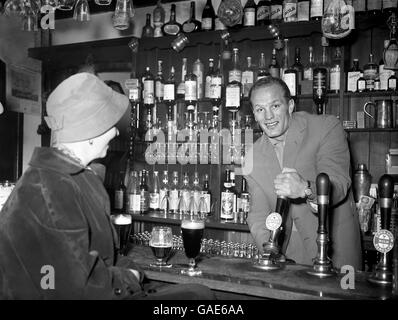
[[[331,115],[294,112],[286,84],[276,78],[257,81],[250,91],[256,122],[264,134],[246,156],[244,174],[252,196],[248,224],[262,250],[269,239],[265,221],[277,196],[290,199],[282,252],[296,263],[312,265],[317,255],[316,177],[329,175],[331,210],[329,247],[333,265],[360,269],[359,220],[350,191],[350,153],[339,120]]]

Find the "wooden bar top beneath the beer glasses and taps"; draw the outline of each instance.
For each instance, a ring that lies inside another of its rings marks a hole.
[[[345,274],[330,278],[317,278],[305,271],[311,266],[288,264],[283,269],[264,271],[253,266],[253,261],[243,258],[213,256],[201,253],[197,266],[201,276],[180,274],[187,267],[188,258],[183,251],[173,251],[168,262],[171,268],[151,267],[155,262],[151,248],[133,245],[129,256],[145,271],[148,279],[168,283],[198,283],[217,291],[251,296],[253,299],[287,300],[384,300],[392,298],[392,287],[382,287],[367,281],[369,273],[355,273],[355,288],[342,289],[340,280]]]

